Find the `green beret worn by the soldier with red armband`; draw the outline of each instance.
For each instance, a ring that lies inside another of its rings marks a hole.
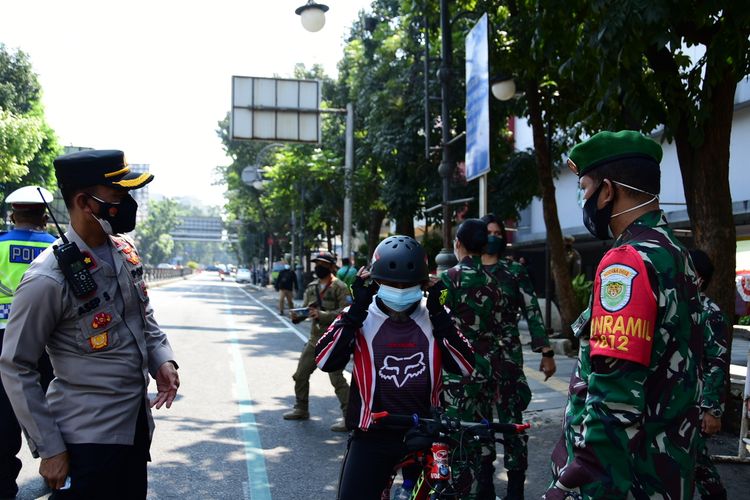
[[[659,143],[640,132],[599,132],[573,147],[568,157],[568,167],[582,177],[596,167],[629,158],[652,160],[658,165],[661,156]]]

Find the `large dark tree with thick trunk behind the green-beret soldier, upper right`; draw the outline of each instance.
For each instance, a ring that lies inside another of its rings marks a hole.
[[[585,15],[571,27],[582,50],[562,69],[578,82],[588,79],[591,92],[573,117],[587,132],[660,129],[675,142],[695,243],[716,265],[708,293],[731,311],[729,146],[737,82],[750,72],[750,11],[743,2],[582,5]]]

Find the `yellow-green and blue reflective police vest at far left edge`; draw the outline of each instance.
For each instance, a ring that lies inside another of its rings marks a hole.
[[[0,236],[0,329],[5,329],[10,304],[31,261],[55,241],[43,231],[14,229]]]

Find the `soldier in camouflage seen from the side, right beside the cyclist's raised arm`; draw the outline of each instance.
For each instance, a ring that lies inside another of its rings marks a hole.
[[[444,406],[448,415],[473,422],[492,420],[497,374],[503,366],[495,335],[505,299],[495,280],[482,269],[481,255],[486,244],[486,224],[479,219],[465,220],[456,232],[459,262],[441,276],[446,287],[444,305],[475,351],[472,375],[460,377],[443,372]],[[494,443],[491,448],[477,445],[467,452],[466,462],[453,462],[453,473],[461,487],[471,488],[471,493],[462,498],[494,499]]]

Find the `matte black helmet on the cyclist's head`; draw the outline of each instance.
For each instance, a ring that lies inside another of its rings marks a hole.
[[[427,254],[411,236],[389,236],[375,248],[370,273],[375,280],[421,283],[428,279]]]

